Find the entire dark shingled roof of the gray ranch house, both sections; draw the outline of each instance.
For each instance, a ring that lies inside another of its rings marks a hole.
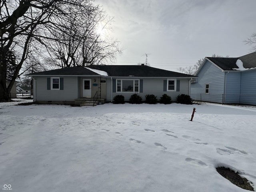
[[[149,66],[138,66],[138,65],[91,65],[88,68],[105,71],[108,76],[112,77],[187,77],[192,78],[195,76],[167,71],[163,69],[153,68]],[[96,72],[86,69],[82,66],[56,69],[38,73],[30,73],[28,76],[36,75],[93,75],[99,76]]]

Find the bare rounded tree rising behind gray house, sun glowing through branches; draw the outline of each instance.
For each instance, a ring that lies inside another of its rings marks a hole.
[[[91,8],[90,12],[77,14],[73,20],[62,24],[68,31],[53,32],[63,41],[48,39],[51,58],[59,60],[61,68],[114,62],[116,54],[121,54],[122,49],[117,40],[106,34],[111,30],[112,21],[113,18],[109,18],[99,6]],[[104,35],[98,33],[99,29],[105,32]]]

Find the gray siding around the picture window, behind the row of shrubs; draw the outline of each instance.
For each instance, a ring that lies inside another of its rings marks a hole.
[[[176,101],[176,97],[179,94],[188,94],[189,92],[188,82],[190,79],[177,79],[177,80],[180,80],[180,91],[164,91],[164,80],[167,80],[167,78],[143,78],[143,92],[136,93],[136,94],[142,97],[142,101],[145,101],[145,95],[147,94],[154,94],[155,96],[157,96],[158,99],[160,99],[160,97],[162,97],[163,94],[167,94],[172,97],[172,101],[174,102]],[[112,94],[112,98],[116,95],[123,95],[125,101],[129,101],[130,96],[134,94],[134,92],[132,93],[112,92],[111,93],[111,84],[112,84],[111,78],[107,78],[106,83],[107,83],[106,84],[107,86],[106,100],[107,101],[111,101],[111,94]]]

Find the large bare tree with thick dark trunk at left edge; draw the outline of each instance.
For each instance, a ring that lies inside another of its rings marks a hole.
[[[64,22],[78,14],[90,12],[91,7],[91,0],[0,1],[0,101],[10,100],[10,90],[24,61],[36,50],[36,44],[39,42],[47,46],[46,39],[63,41],[53,32],[62,31]],[[15,52],[18,65],[7,87],[8,50]]]

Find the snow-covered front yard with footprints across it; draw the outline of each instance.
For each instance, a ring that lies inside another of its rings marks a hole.
[[[15,103],[0,103],[0,190],[247,191],[218,174],[217,166],[256,184],[253,108]]]

